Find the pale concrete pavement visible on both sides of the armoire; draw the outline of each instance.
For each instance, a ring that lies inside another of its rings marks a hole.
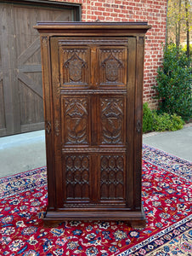
[[[144,134],[143,142],[192,162],[192,124]],[[46,166],[44,131],[0,137],[0,177]]]

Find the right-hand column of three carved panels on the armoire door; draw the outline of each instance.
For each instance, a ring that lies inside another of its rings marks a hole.
[[[121,207],[127,188],[127,39],[116,43],[111,39],[108,44],[97,47],[98,145],[103,151],[98,201]]]

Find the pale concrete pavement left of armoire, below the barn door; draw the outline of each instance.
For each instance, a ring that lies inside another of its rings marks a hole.
[[[0,137],[0,177],[46,166],[44,131]]]

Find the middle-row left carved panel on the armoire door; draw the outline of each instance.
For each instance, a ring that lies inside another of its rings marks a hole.
[[[88,144],[88,98],[65,99],[66,144]]]

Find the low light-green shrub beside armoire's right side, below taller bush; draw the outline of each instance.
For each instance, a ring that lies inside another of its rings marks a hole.
[[[177,131],[184,126],[184,120],[176,113],[157,113],[151,111],[145,102],[143,106],[143,132]]]

